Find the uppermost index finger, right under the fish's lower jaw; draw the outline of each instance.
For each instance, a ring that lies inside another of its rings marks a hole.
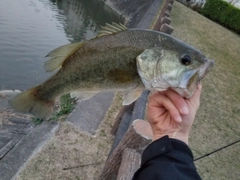
[[[170,89],[162,93],[165,94],[165,96],[167,96],[169,99],[171,99],[173,104],[178,108],[179,112],[182,115],[187,115],[189,113],[188,106],[185,99],[182,96],[180,96],[178,93]]]

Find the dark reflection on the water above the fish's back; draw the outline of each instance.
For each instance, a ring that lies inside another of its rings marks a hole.
[[[57,7],[66,17],[66,34],[74,41],[90,39],[106,22],[123,21],[101,0],[59,0]]]

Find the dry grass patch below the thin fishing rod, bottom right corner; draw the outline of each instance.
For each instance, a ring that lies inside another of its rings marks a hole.
[[[240,142],[195,161],[202,179],[238,180],[240,178]]]

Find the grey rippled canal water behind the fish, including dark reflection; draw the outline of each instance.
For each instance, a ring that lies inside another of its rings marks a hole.
[[[123,18],[101,0],[0,0],[0,90],[44,82],[48,52],[111,22]]]

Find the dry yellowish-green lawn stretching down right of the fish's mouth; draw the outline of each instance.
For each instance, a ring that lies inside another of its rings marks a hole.
[[[173,4],[171,19],[173,36],[215,61],[213,70],[202,81],[201,107],[189,141],[197,158],[239,140],[240,37],[177,1]],[[233,147],[229,153],[228,149],[214,154],[215,158],[206,157],[196,162],[203,179],[239,178],[239,173],[228,173],[234,172],[239,164],[238,156],[233,158],[239,148]],[[221,158],[224,151],[227,156]]]

